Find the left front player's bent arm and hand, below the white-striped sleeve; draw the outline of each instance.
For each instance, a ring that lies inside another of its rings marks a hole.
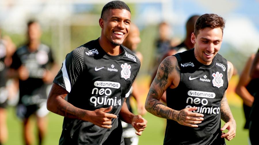
[[[66,89],[53,83],[47,99],[47,109],[64,117],[92,122],[102,128],[112,127],[111,119],[117,118],[117,115],[106,113],[111,111],[112,106],[108,108],[96,109],[94,111],[80,109],[64,99],[67,94],[68,92]]]

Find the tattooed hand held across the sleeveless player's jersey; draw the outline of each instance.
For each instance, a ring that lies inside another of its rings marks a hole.
[[[203,114],[194,113],[191,111],[197,110],[198,107],[188,107],[174,114],[174,120],[181,125],[197,128],[201,121],[203,121]]]

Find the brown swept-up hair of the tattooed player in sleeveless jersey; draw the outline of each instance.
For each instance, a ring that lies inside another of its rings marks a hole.
[[[201,15],[195,22],[194,25],[194,34],[197,36],[199,34],[199,30],[204,28],[220,28],[223,34],[223,29],[225,28],[225,22],[222,17],[218,16],[217,14],[204,14]]]

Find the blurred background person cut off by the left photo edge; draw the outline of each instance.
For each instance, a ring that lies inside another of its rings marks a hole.
[[[12,55],[15,45],[8,36],[1,38],[0,30],[0,145],[4,144],[8,138],[7,130],[7,105],[11,93],[17,93],[17,88],[12,80],[8,80],[8,68],[12,63]],[[10,90],[12,89],[12,90]],[[15,94],[16,95],[16,94]]]

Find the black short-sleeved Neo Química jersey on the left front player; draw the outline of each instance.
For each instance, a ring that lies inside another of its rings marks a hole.
[[[98,39],[87,42],[67,54],[54,83],[66,89],[68,102],[85,110],[113,106],[108,113],[118,115],[139,71],[139,59],[126,47],[117,56],[107,54]],[[64,117],[59,144],[121,144],[122,129],[118,117],[112,128]]]

